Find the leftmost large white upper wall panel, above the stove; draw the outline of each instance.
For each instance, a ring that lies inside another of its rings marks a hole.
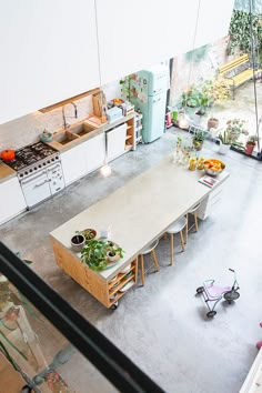
[[[94,0],[0,0],[0,123],[99,87]]]

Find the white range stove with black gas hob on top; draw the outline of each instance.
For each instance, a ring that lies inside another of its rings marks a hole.
[[[6,163],[18,172],[28,208],[64,188],[59,152],[43,142],[17,150],[16,159]]]

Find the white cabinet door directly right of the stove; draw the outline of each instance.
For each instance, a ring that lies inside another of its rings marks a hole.
[[[85,161],[82,144],[61,152],[60,158],[66,185],[71,184],[85,174]]]

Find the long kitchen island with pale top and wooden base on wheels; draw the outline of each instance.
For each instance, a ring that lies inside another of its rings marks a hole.
[[[50,239],[58,265],[107,308],[117,304],[125,292],[121,289],[129,282],[129,286],[137,283],[141,251],[229,178],[224,170],[209,188],[199,182],[203,175],[203,171],[189,171],[168,155],[52,231]],[[124,250],[123,258],[103,271],[89,269],[71,248],[75,231],[87,228],[98,234],[108,231],[109,239]]]

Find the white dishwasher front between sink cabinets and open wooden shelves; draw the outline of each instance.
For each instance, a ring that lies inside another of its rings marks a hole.
[[[107,159],[117,159],[124,153],[127,138],[127,123],[115,127],[107,132]]]

